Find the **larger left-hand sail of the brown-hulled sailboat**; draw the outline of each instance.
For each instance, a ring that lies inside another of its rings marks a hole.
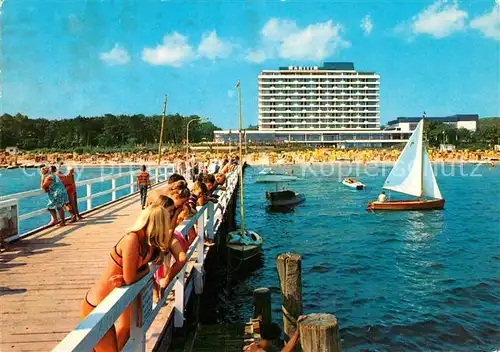
[[[420,121],[385,180],[385,189],[422,196],[423,127]]]

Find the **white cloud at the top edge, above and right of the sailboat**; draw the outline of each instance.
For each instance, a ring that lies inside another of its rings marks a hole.
[[[428,34],[436,39],[447,37],[466,28],[467,12],[458,8],[457,1],[437,0],[413,16],[407,23],[396,27],[398,32],[409,31],[413,35]]]

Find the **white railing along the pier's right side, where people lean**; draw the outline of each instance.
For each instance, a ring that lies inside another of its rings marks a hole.
[[[201,294],[203,291],[203,265],[207,253],[204,246],[205,236],[213,238],[217,232],[237,184],[238,172],[228,174],[226,191],[218,192],[219,202],[217,206],[208,203],[203,207],[198,207],[198,212],[194,217],[185,220],[176,228],[177,231],[187,236],[188,231],[197,224],[198,233],[186,253],[186,264],[172,279],[163,298],[157,304],[153,303],[152,298],[153,275],[158,267],[152,266],[150,273],[138,282],[130,286],[115,288],[53,351],[91,351],[131,304],[130,339],[124,351],[145,351],[146,332],[172,292],[175,297],[174,326],[183,327],[184,309],[193,286],[196,294]],[[186,271],[188,265],[191,264],[193,264],[194,277],[193,280],[187,281]]]

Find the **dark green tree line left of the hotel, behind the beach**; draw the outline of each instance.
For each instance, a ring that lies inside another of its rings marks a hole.
[[[30,119],[28,116],[0,116],[0,148],[17,146],[22,150],[80,148],[116,148],[157,145],[161,115],[112,115],[64,120]],[[165,117],[163,143],[179,144],[186,139],[186,125],[197,115]],[[219,128],[211,122],[192,122],[189,142],[212,141]]]

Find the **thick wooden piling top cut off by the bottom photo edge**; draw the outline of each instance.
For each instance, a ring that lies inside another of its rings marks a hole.
[[[340,352],[339,327],[332,314],[309,314],[299,329],[303,352]]]

